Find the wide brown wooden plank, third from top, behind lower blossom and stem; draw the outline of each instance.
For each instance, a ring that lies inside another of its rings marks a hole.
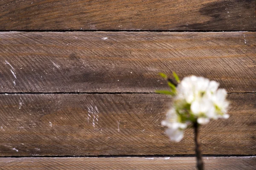
[[[256,94],[229,94],[230,119],[201,128],[204,154],[256,154]],[[170,142],[160,94],[0,95],[0,156],[194,154]]]

